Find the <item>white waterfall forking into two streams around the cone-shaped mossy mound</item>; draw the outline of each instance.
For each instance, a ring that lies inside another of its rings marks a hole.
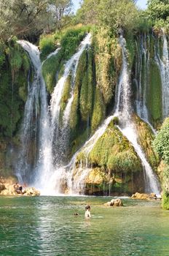
[[[135,132],[134,124],[132,123],[131,113],[132,108],[130,105],[130,78],[127,72],[127,58],[126,58],[126,49],[125,49],[125,39],[121,36],[119,39],[119,43],[122,47],[122,72],[119,77],[119,85],[117,86],[116,91],[116,110],[113,116],[109,116],[104,121],[103,125],[99,127],[99,129],[95,132],[92,138],[87,140],[87,142],[79,149],[82,153],[84,153],[86,160],[85,163],[81,163],[79,170],[77,173],[74,173],[75,161],[76,156],[79,153],[76,152],[74,157],[71,159],[70,164],[68,165],[69,172],[63,172],[63,176],[65,176],[68,191],[71,193],[79,193],[82,192],[84,189],[84,179],[90,172],[90,168],[87,166],[87,157],[90,151],[93,149],[93,146],[97,142],[99,138],[103,135],[106,131],[111,120],[114,116],[119,117],[120,122],[120,131],[123,135],[130,141],[130,143],[135,148],[135,152],[140,157],[142,165],[145,170],[145,184],[146,184],[146,192],[155,192],[157,195],[160,195],[160,185],[157,181],[157,178],[154,176],[152,171],[152,167],[146,160],[144,152],[141,150],[141,146],[138,145],[137,142],[137,135]],[[144,92],[145,94],[145,92]],[[145,108],[144,108],[145,109]],[[146,118],[146,116],[144,116]],[[71,170],[71,172],[70,172]]]

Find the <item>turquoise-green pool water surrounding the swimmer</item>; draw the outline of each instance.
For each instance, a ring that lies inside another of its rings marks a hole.
[[[0,197],[0,255],[169,255],[169,211],[160,202],[109,197]],[[90,204],[92,218],[84,219]],[[78,216],[74,213],[78,212]]]

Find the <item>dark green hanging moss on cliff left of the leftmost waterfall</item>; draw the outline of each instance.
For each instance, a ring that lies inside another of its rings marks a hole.
[[[18,131],[27,97],[27,79],[30,61],[27,54],[12,39],[3,45],[0,79],[0,135],[12,137]]]

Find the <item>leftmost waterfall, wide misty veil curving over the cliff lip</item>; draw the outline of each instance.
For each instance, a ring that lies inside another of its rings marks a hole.
[[[50,120],[48,116],[47,92],[42,77],[42,63],[39,49],[30,42],[18,41],[28,52],[34,66],[34,81],[28,86],[28,99],[25,103],[23,128],[21,133],[22,148],[16,167],[20,182],[38,183],[42,187],[42,178],[47,178],[52,172],[52,148],[50,135]],[[55,50],[52,54],[57,54]],[[50,58],[47,56],[47,58]],[[34,149],[31,142],[34,141]],[[30,154],[33,162],[30,163]]]

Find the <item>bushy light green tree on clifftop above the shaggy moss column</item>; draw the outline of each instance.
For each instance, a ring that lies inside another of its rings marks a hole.
[[[134,0],[84,0],[77,12],[77,20],[94,23],[118,32],[119,28],[133,29],[138,9]]]

